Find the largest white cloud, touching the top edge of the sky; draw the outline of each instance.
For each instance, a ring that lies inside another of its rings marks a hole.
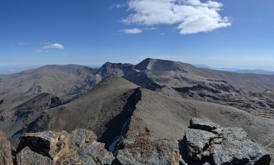
[[[177,24],[180,34],[209,32],[231,25],[229,17],[218,13],[222,6],[210,0],[130,0],[127,10],[133,13],[121,21],[145,26]]]

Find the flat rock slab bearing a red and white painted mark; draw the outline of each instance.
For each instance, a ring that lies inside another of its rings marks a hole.
[[[93,158],[97,158],[100,151],[105,147],[105,143],[100,143],[96,140],[92,140],[87,144],[83,144],[78,150],[79,154],[87,154]]]

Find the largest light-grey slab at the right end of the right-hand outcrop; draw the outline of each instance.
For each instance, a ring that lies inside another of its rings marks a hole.
[[[270,154],[247,138],[242,128],[223,128],[222,143],[211,144],[210,154],[215,165],[270,164]]]

